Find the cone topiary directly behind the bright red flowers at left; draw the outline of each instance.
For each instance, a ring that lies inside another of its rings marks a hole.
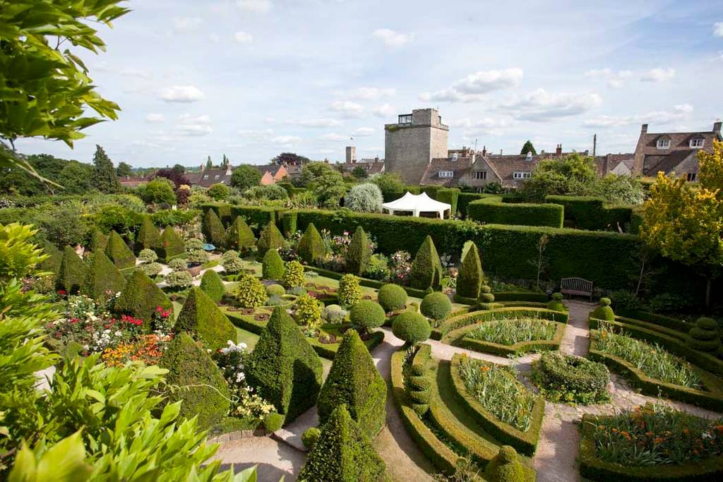
[[[142,319],[146,332],[150,331],[150,321],[158,306],[164,310],[174,307],[166,293],[163,293],[161,288],[158,288],[153,280],[140,270],[136,270],[129,277],[126,287],[114,304],[114,308],[119,313]]]

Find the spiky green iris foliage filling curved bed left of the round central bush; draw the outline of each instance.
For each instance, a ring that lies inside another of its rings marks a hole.
[[[532,421],[534,395],[510,368],[462,356],[459,374],[470,395],[497,419],[521,431]]]

